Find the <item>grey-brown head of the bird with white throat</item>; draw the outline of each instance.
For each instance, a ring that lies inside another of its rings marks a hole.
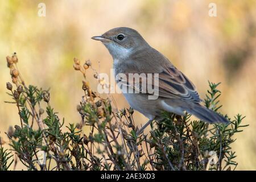
[[[134,50],[149,47],[142,36],[128,27],[113,28],[100,36],[93,36],[92,39],[100,40],[108,48],[113,59],[126,59]]]

